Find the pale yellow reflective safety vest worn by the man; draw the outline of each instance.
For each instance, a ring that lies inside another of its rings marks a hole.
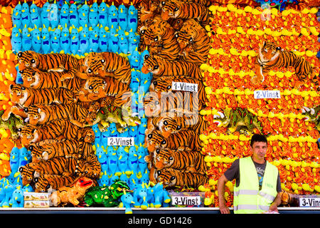
[[[267,211],[277,196],[277,167],[267,162],[262,188],[259,191],[259,179],[252,158],[240,158],[239,166],[240,184],[234,187],[233,192],[234,213],[260,214]]]

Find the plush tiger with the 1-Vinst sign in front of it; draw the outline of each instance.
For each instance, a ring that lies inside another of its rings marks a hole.
[[[197,85],[191,86],[186,83],[193,83]],[[184,76],[162,76],[154,81],[152,81],[150,91],[155,91],[156,93],[163,93],[163,92],[173,92],[174,90],[198,93],[199,102],[205,104],[207,99],[205,86],[203,86],[202,81],[194,79],[194,78],[187,78]],[[198,92],[196,91],[198,90]]]

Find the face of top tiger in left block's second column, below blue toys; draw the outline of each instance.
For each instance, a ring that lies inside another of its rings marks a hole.
[[[85,66],[87,66],[87,73],[97,75],[105,71],[107,61],[100,53],[92,52],[85,57]]]

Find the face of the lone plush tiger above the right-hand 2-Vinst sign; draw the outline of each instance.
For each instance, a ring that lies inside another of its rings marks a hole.
[[[259,48],[259,63],[265,65],[272,61],[276,61],[279,57],[280,51],[280,47],[276,46],[274,43],[265,41]]]

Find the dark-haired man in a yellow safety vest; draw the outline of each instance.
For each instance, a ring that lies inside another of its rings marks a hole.
[[[281,182],[277,167],[265,160],[267,138],[252,135],[252,157],[235,160],[218,180],[219,207],[222,214],[229,214],[225,206],[225,183],[235,179],[233,209],[235,214],[278,212],[281,203]]]

